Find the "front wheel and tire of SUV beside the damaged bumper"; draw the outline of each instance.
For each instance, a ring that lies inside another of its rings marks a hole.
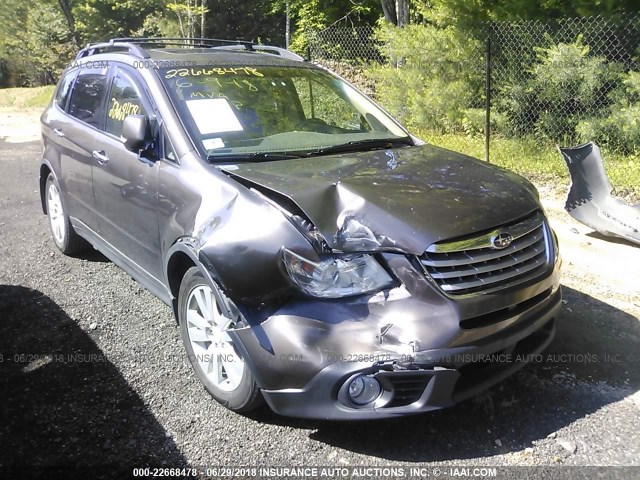
[[[216,285],[197,267],[182,279],[178,294],[178,320],[182,341],[196,375],[211,396],[234,412],[249,412],[263,403],[250,368],[225,330],[243,322],[221,313],[216,298],[225,299]]]

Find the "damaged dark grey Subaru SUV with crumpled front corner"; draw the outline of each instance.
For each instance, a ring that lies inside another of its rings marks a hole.
[[[92,245],[171,305],[234,411],[447,407],[553,337],[560,261],[535,188],[424,144],[291,52],[92,44],[42,132],[58,248]]]

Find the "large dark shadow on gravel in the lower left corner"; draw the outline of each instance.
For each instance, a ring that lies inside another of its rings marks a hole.
[[[91,337],[43,293],[0,285],[0,355],[0,466],[186,465]]]

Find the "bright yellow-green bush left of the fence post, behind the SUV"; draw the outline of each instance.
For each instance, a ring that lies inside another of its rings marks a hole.
[[[369,71],[381,103],[410,128],[463,131],[468,109],[483,102],[481,44],[433,25],[381,24],[378,37],[392,62]]]

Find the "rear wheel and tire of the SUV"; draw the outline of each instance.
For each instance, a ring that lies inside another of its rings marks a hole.
[[[56,247],[65,255],[76,255],[85,250],[88,243],[73,229],[60,195],[60,186],[52,173],[47,177],[44,194],[49,229]]]

